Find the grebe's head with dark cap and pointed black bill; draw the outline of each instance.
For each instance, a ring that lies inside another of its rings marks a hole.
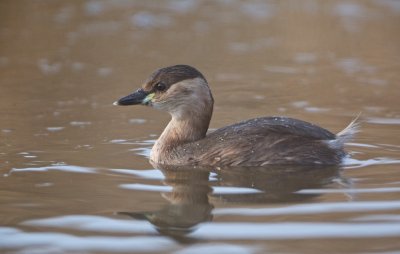
[[[182,119],[199,114],[211,117],[213,103],[207,81],[198,70],[188,65],[174,65],[156,70],[142,88],[114,105],[147,105]]]

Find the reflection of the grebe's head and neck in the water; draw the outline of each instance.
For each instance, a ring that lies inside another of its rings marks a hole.
[[[147,220],[164,235],[179,237],[192,232],[201,222],[211,221],[214,208],[209,202],[212,188],[208,169],[159,166],[164,183],[172,190],[162,193],[169,202],[155,211],[119,212],[134,219]]]

